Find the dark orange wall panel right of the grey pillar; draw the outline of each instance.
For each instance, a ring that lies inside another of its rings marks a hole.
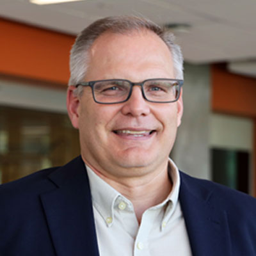
[[[234,115],[256,116],[256,79],[231,74],[212,65],[212,110]]]

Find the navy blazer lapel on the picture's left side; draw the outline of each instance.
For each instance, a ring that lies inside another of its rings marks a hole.
[[[99,256],[87,173],[81,157],[49,175],[56,189],[41,195],[58,256]]]

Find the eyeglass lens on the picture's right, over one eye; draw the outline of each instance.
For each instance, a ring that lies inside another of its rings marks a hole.
[[[148,80],[143,84],[145,97],[148,100],[164,102],[175,101],[179,97],[179,83],[172,80]]]

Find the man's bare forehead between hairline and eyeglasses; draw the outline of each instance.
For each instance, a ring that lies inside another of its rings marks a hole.
[[[166,77],[170,73],[168,77],[173,78],[172,54],[163,40],[152,31],[129,31],[125,35],[106,32],[90,48],[86,72],[87,76],[93,76],[90,79],[129,79],[125,76],[142,70],[148,73],[151,70],[152,74],[145,79],[154,78],[158,73],[159,77]],[[99,77],[100,74],[104,77]]]

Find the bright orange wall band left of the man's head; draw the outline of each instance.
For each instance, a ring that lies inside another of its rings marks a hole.
[[[74,36],[0,19],[0,73],[67,84]]]

